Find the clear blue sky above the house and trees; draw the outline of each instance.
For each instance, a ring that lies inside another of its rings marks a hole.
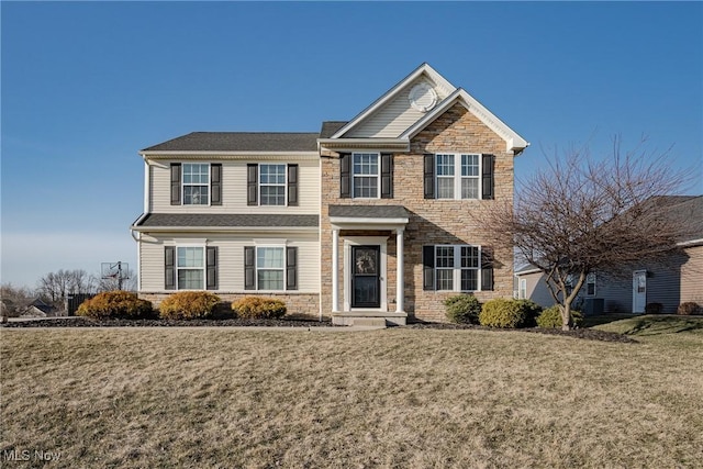
[[[703,193],[703,3],[2,1],[1,278],[122,260],[141,148],[192,131],[314,132],[423,62],[532,146],[643,134]]]

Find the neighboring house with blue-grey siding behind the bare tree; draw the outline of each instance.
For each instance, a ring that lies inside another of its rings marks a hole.
[[[690,226],[689,234],[678,243],[681,253],[663,261],[635,265],[629,269],[632,277],[625,280],[598,272],[589,275],[577,299],[587,314],[644,313],[649,303],[661,303],[662,312],[676,313],[684,302],[703,304],[703,196],[672,196],[665,200],[670,205],[671,222]],[[538,269],[525,266],[515,277],[518,298],[543,306],[554,304]]]

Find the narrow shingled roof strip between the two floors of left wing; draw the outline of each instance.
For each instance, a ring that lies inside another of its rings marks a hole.
[[[316,227],[317,215],[265,213],[149,213],[136,226],[146,227]]]

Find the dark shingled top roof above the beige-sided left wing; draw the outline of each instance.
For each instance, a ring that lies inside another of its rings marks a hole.
[[[314,132],[192,132],[142,152],[316,152]]]

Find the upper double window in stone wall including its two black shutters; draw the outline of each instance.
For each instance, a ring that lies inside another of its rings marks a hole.
[[[426,154],[425,199],[493,199],[493,155]]]

